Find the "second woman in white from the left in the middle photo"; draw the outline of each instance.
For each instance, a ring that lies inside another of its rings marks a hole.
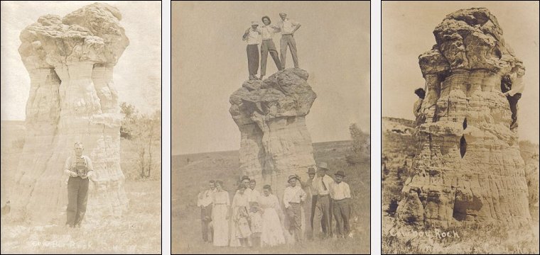
[[[252,235],[249,229],[249,202],[246,186],[242,185],[232,198],[232,223],[230,246],[251,246],[249,237]]]

